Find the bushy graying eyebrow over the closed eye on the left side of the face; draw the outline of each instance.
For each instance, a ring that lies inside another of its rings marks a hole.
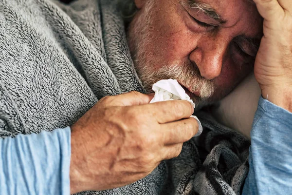
[[[207,16],[218,20],[220,23],[226,23],[225,20],[222,20],[222,17],[216,12],[216,10],[208,3],[204,3],[201,0],[187,0],[186,3],[181,1],[184,6],[187,6],[189,9],[198,9],[202,11]]]

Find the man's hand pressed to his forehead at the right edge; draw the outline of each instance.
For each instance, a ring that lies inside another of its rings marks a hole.
[[[264,18],[255,76],[267,98],[292,112],[292,0],[254,0]]]

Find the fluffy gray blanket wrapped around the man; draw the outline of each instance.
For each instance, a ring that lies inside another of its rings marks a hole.
[[[70,126],[98,99],[131,90],[144,92],[113,0],[0,0],[1,138]],[[131,185],[81,194],[240,194],[250,142],[200,115],[204,132],[179,157]]]

